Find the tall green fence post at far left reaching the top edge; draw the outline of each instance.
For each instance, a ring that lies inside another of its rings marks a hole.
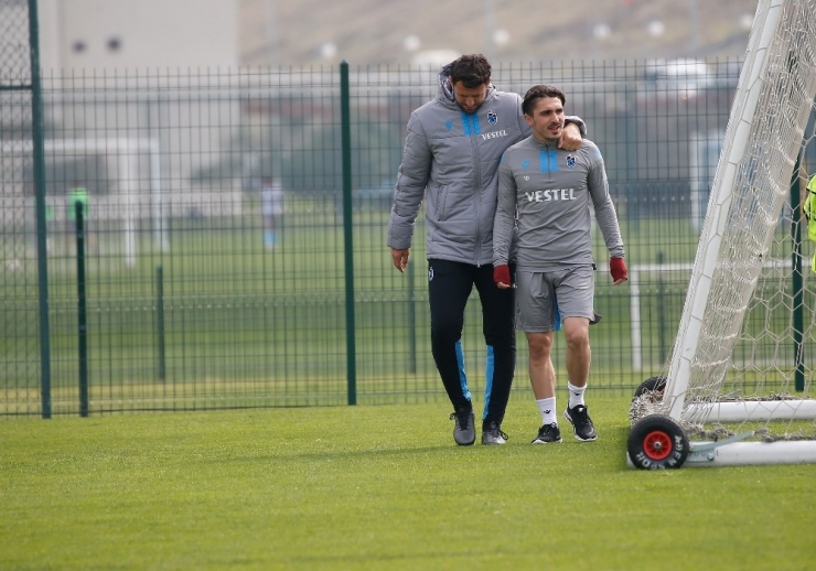
[[[31,54],[31,138],[34,163],[34,215],[36,217],[36,273],[40,311],[40,395],[42,417],[51,418],[51,325],[49,323],[49,252],[45,225],[45,128],[43,87],[40,77],[40,22],[36,0],[29,0],[29,53]]]

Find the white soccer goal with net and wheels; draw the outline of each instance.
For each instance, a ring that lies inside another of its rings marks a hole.
[[[674,348],[632,401],[635,467],[816,462],[816,273],[801,214],[815,97],[816,0],[761,0]]]

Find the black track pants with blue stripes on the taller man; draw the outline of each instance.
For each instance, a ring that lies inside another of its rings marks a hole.
[[[516,366],[515,290],[496,287],[493,266],[428,260],[431,351],[453,408],[471,408],[461,341],[464,308],[473,286],[482,302],[482,333],[487,345],[482,423],[501,424]]]

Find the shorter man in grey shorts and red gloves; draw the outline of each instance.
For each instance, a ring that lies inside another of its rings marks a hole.
[[[494,280],[505,291],[515,281],[516,326],[529,346],[530,385],[543,419],[534,444],[561,442],[550,358],[554,331],[561,320],[569,376],[563,414],[576,439],[598,438],[583,401],[591,358],[589,325],[595,320],[590,205],[609,250],[614,284],[626,280],[623,240],[601,152],[589,140],[576,152],[558,148],[565,103],[560,89],[544,85],[524,96],[522,109],[533,134],[504,153],[493,226]],[[516,230],[514,280],[509,258]]]

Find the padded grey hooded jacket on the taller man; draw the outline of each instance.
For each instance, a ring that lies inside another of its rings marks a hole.
[[[530,129],[522,114],[522,97],[492,85],[475,112],[463,111],[453,99],[449,75],[450,65],[439,74],[436,99],[408,120],[388,246],[411,247],[425,197],[427,257],[482,266],[493,261],[498,162]],[[583,130],[580,119],[569,119]]]

